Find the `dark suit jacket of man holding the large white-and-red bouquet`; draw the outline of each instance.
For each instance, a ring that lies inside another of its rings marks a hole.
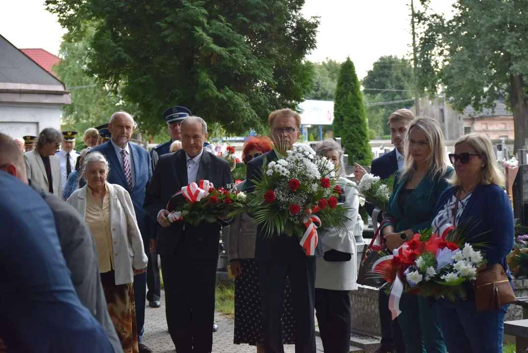
[[[248,163],[247,168],[247,182],[246,191],[251,193],[254,190],[253,180],[260,180],[260,171],[264,165],[269,164],[273,160],[277,160],[277,154],[275,150],[271,150],[257,158],[252,159]],[[265,233],[262,232],[262,224],[257,225],[257,241],[255,244],[255,259],[259,261],[277,261],[284,259],[293,259],[294,257],[306,256],[306,251],[299,244],[300,238],[277,233],[276,231],[271,237],[265,237]],[[315,256],[323,256],[323,245],[322,242],[317,242],[315,248]],[[311,256],[310,256],[311,257]]]

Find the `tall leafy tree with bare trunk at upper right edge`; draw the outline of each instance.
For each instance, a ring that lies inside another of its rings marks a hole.
[[[428,1],[423,1],[427,6]],[[419,14],[420,84],[445,87],[457,110],[494,108],[506,97],[513,112],[515,150],[528,138],[528,2],[458,0],[451,20]]]

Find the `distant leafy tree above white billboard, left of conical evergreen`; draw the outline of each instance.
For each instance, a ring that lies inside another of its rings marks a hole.
[[[312,91],[306,94],[305,99],[333,101],[341,63],[327,58],[321,63],[313,63],[313,66]]]

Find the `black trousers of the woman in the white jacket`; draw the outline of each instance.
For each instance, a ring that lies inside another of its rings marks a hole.
[[[352,304],[348,291],[315,289],[315,311],[325,352],[348,353]]]

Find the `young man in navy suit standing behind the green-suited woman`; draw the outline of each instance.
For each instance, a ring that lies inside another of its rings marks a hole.
[[[372,161],[370,167],[370,174],[379,176],[381,179],[386,179],[399,169],[403,168],[405,157],[403,156],[403,140],[407,133],[407,126],[414,119],[414,114],[408,109],[399,109],[393,112],[387,123],[391,128],[391,142],[394,149]],[[354,164],[354,176],[357,182],[361,181],[366,170],[359,164]],[[392,187],[392,185],[390,185]],[[372,217],[375,216],[374,207],[371,204],[365,203],[365,209]],[[378,212],[380,210],[376,210]],[[383,212],[379,212],[376,221],[380,224],[383,221]],[[389,310],[389,297],[385,291],[379,291],[378,309],[380,311],[381,324],[381,348],[376,350],[376,353],[386,353],[395,351],[397,353],[404,353],[405,346],[401,328],[398,323],[398,318],[392,320],[392,315]]]

